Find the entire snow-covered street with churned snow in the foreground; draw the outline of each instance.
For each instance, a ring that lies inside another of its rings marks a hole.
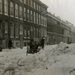
[[[75,44],[61,42],[27,56],[26,49],[0,53],[0,75],[75,75]]]

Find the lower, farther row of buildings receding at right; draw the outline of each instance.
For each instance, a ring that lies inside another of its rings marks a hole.
[[[68,21],[63,21],[51,13],[47,13],[47,40],[48,44],[60,42],[75,42],[75,27]]]

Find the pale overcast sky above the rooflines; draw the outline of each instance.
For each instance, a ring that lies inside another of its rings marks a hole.
[[[68,20],[75,26],[75,0],[41,0],[48,5],[48,11]]]

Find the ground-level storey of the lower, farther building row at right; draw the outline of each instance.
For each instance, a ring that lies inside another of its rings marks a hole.
[[[71,43],[72,39],[69,36],[64,36],[57,33],[48,33],[47,35],[47,44],[59,44],[60,42]]]

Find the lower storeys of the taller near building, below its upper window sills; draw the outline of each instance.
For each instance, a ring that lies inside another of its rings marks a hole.
[[[8,47],[9,39],[13,42],[13,47],[27,46],[30,39],[40,41],[47,37],[47,27],[26,22],[10,17],[0,17],[0,45],[3,48]]]

